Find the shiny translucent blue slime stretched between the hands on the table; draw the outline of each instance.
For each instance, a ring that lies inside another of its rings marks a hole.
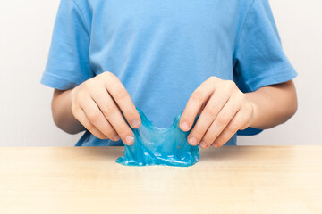
[[[199,148],[187,142],[190,132],[183,132],[179,128],[181,115],[174,119],[169,128],[155,127],[137,109],[141,126],[132,129],[134,144],[124,146],[123,156],[116,160],[125,166],[165,165],[175,167],[189,167],[199,161]]]

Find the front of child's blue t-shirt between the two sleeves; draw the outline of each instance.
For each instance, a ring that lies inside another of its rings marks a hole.
[[[165,128],[207,78],[233,79],[236,37],[251,1],[77,3],[89,29],[92,70],[114,72],[135,105]]]

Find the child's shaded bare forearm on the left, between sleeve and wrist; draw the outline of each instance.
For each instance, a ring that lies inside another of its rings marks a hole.
[[[70,134],[77,134],[85,128],[72,115],[72,90],[55,90],[52,101],[52,112],[55,124]]]

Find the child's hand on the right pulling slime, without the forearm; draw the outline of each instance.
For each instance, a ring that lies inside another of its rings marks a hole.
[[[188,136],[189,144],[216,148],[239,129],[250,126],[254,108],[233,81],[211,77],[191,95],[182,113],[180,128],[190,130],[198,113],[199,119]]]

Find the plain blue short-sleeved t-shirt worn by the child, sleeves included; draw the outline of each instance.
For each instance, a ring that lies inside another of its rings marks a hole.
[[[211,76],[243,92],[296,76],[268,0],[61,0],[41,82],[66,90],[104,71],[160,128]],[[122,144],[89,132],[79,142]]]

